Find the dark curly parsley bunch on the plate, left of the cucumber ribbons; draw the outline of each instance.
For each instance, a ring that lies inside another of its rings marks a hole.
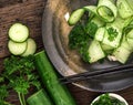
[[[98,25],[93,22],[91,23],[79,22],[73,27],[69,34],[69,48],[71,50],[79,50],[81,57],[85,62],[90,60],[88,49],[91,40],[94,38],[96,30]]]

